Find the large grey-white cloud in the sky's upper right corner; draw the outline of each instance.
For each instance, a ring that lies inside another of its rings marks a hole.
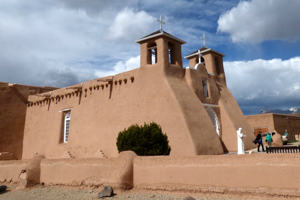
[[[241,1],[218,20],[217,30],[233,42],[296,41],[300,38],[300,1]]]

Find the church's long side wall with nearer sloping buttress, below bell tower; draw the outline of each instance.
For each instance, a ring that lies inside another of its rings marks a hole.
[[[91,80],[79,93],[65,95],[74,90],[61,88],[52,92],[50,100],[30,105],[23,158],[34,152],[61,158],[64,151],[87,158],[94,157],[97,150],[116,157],[118,133],[132,124],[152,121],[167,133],[171,155],[223,154],[214,127],[208,126],[211,121],[203,104],[184,79],[184,69],[173,64],[166,67],[169,70],[157,63],[117,74],[107,86],[107,82]],[[101,84],[104,86],[94,87]],[[29,97],[32,102],[42,99]],[[68,108],[72,108],[70,133],[68,142],[63,143],[64,113],[58,111]]]

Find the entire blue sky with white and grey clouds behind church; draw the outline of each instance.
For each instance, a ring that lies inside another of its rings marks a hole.
[[[3,0],[0,81],[65,87],[137,68],[134,40],[157,31],[162,15],[162,29],[187,41],[182,56],[203,46],[203,33],[226,55],[227,86],[245,115],[300,108],[299,8],[299,0]]]

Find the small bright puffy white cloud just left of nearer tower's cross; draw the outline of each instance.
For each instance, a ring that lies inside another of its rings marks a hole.
[[[134,41],[138,39],[138,34],[133,33],[143,36],[149,34],[154,22],[155,18],[145,11],[134,12],[133,8],[125,7],[109,27],[108,38]]]

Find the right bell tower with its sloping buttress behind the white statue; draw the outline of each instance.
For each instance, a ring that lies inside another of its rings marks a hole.
[[[212,90],[215,95],[213,99],[216,101],[216,103],[214,104],[219,105],[221,120],[220,138],[223,150],[237,151],[238,139],[236,131],[240,127],[242,128],[242,133],[246,135],[246,137],[243,138],[244,150],[254,148],[255,145],[252,142],[253,130],[245,119],[243,112],[238,106],[238,103],[235,101],[235,98],[227,88],[222,56],[214,52],[205,52],[203,53],[202,57],[205,60],[207,72],[214,74],[214,76],[208,76],[206,73],[206,76],[208,80],[211,80],[209,83],[216,87],[210,88],[210,90]],[[218,97],[216,97],[216,94],[218,94]],[[209,98],[205,98],[205,100],[206,99],[209,100]],[[212,101],[205,102],[205,100],[203,103],[212,103]]]

